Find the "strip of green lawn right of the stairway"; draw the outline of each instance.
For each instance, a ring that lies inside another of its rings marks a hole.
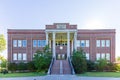
[[[120,77],[120,72],[86,72],[84,74],[77,75],[90,77]]]

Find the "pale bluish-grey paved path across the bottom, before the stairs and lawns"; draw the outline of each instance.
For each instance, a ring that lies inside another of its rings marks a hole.
[[[0,80],[120,80],[120,78],[81,77],[75,75],[47,75],[37,77],[0,78]]]

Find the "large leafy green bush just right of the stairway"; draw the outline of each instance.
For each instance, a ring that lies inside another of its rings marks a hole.
[[[80,74],[87,71],[85,52],[82,49],[73,52],[72,63],[76,73]]]

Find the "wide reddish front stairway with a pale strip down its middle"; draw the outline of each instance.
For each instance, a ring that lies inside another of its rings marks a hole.
[[[52,66],[51,74],[71,74],[71,68],[68,60],[55,60]]]

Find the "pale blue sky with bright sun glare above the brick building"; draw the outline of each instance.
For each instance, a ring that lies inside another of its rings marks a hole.
[[[116,29],[120,55],[120,0],[0,0],[0,34],[5,37],[7,29],[44,29],[65,22],[79,29]]]

